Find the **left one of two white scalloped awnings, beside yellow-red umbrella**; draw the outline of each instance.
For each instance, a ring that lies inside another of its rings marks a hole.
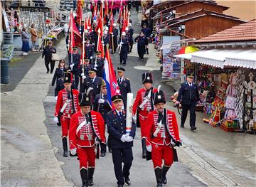
[[[242,49],[210,49],[197,51],[192,54],[192,63],[201,63],[216,68],[224,68],[224,60],[227,56],[233,56],[242,52]]]

